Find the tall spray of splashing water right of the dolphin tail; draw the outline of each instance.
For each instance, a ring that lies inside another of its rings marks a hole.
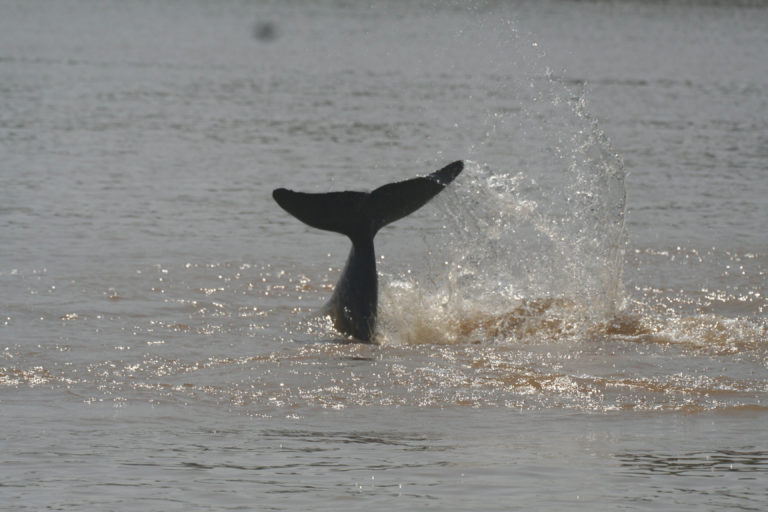
[[[445,226],[427,244],[427,277],[385,283],[383,343],[562,337],[619,309],[622,161],[583,94],[564,101],[565,85],[540,82],[520,108],[490,115],[473,147],[488,158],[435,201]]]

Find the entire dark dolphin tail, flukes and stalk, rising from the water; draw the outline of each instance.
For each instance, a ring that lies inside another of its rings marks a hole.
[[[382,227],[424,206],[463,169],[463,162],[453,162],[429,176],[390,183],[373,192],[307,194],[284,188],[272,192],[277,204],[300,221],[347,235],[352,241],[344,271],[325,306],[336,329],[371,341],[378,305],[373,237]]]

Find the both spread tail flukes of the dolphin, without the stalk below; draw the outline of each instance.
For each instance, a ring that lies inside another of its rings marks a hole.
[[[464,169],[453,162],[428,176],[390,183],[373,192],[309,194],[278,188],[272,197],[285,211],[313,228],[347,235],[354,242],[424,206]]]

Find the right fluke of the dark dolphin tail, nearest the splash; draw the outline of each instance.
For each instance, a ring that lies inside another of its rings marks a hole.
[[[390,183],[371,192],[369,215],[374,233],[424,206],[463,169],[464,162],[453,162],[429,176]]]

